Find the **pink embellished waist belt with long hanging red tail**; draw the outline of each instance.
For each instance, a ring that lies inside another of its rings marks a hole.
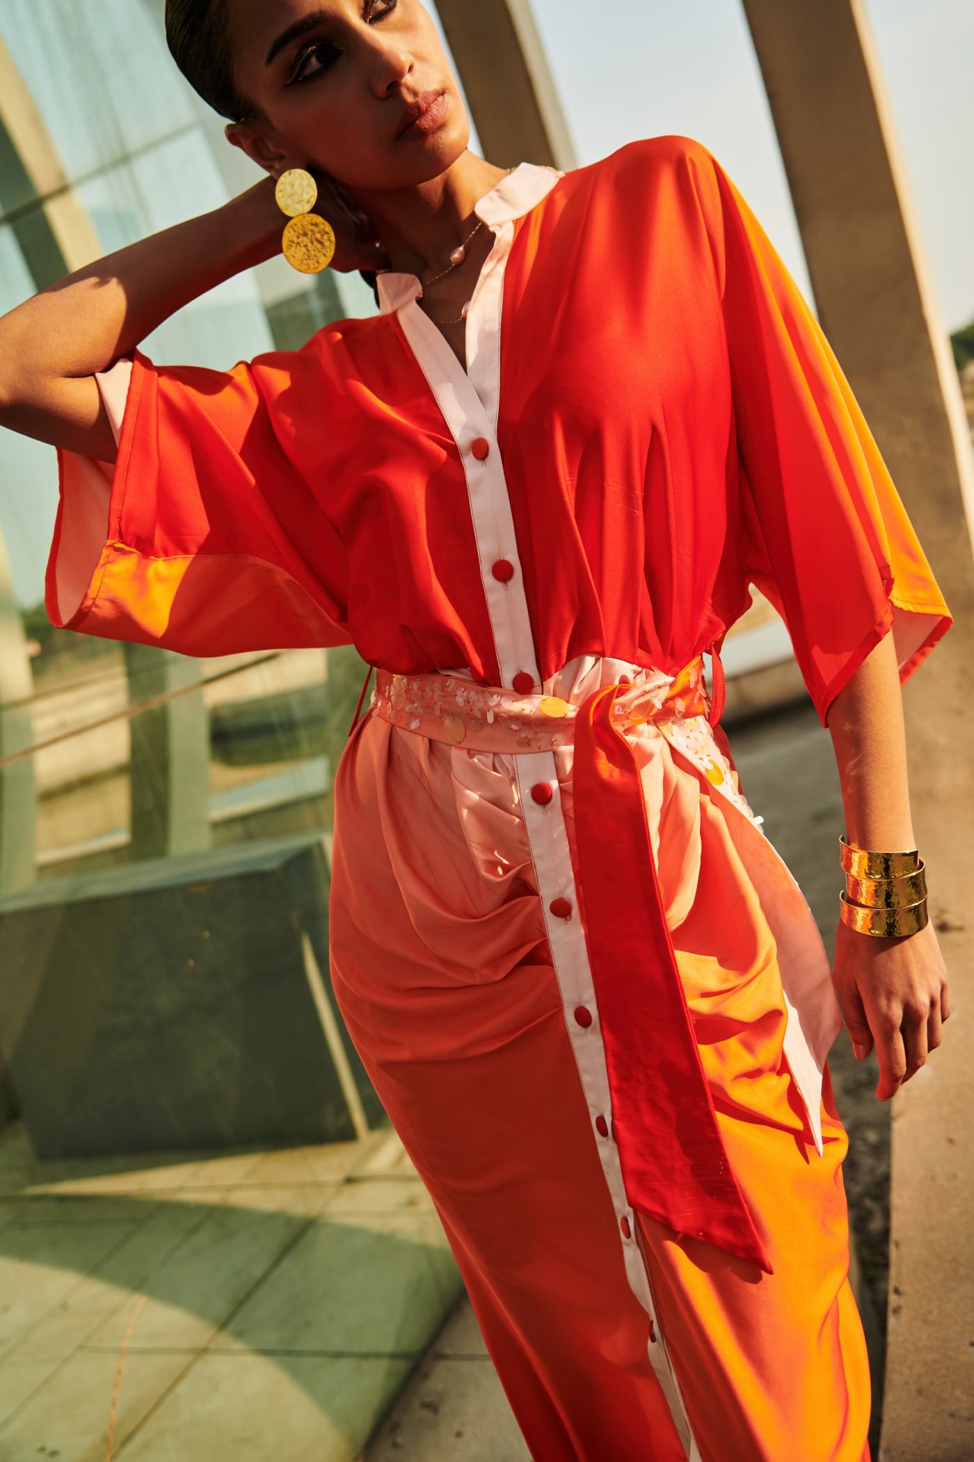
[[[675,677],[634,667],[632,675],[602,686],[578,705],[559,696],[478,686],[448,673],[378,670],[371,711],[459,749],[510,754],[574,746],[584,933],[626,1196],[632,1208],[675,1231],[771,1273],[730,1168],[697,1050],[666,924],[638,762],[626,737],[626,728],[656,722],[711,784],[746,807],[707,724],[716,724],[723,709],[716,655],[713,664],[713,702],[698,656]],[[685,732],[695,718],[702,725],[698,722],[694,743]],[[673,727],[682,728],[682,738],[672,734]],[[621,845],[634,857],[619,858]],[[635,969],[638,981],[631,977]]]

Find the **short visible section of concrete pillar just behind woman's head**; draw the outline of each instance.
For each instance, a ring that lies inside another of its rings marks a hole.
[[[483,155],[574,168],[575,154],[529,0],[438,0]]]

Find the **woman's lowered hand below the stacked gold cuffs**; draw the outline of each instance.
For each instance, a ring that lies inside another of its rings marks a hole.
[[[940,1026],[951,1015],[933,925],[904,939],[878,939],[840,921],[834,978],[853,1050],[862,1058],[876,1042],[876,1096],[889,1101],[940,1044]]]

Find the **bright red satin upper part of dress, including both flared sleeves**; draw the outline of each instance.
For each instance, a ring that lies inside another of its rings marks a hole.
[[[133,354],[107,522],[77,520],[91,465],[60,453],[53,623],[188,655],[355,643],[388,670],[507,684],[485,588],[492,557],[515,557],[537,680],[581,654],[675,674],[751,583],[822,718],[891,627],[910,674],[949,613],[828,341],[720,162],[651,137],[520,203],[543,171],[523,164],[483,200],[514,231],[479,354],[496,360],[517,551],[475,529],[482,431],[447,428],[403,325],[418,281],[391,275],[383,314],[298,351],[226,371]]]

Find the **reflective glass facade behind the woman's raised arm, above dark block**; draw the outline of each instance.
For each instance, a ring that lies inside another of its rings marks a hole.
[[[0,310],[257,180],[253,164],[226,145],[221,118],[172,66],[162,0],[10,0],[0,15]],[[226,368],[372,308],[358,275],[305,278],[276,259],[178,311],[145,351],[156,361]],[[54,452],[0,431],[7,560],[0,674],[12,681],[3,686],[3,756],[25,743],[38,747],[0,772],[1,892],[145,855],[327,829],[358,659],[311,651],[187,662],[53,630],[42,580],[55,503]],[[153,735],[137,706],[177,684],[181,705],[155,713]],[[162,722],[175,718],[180,756],[153,769]]]

